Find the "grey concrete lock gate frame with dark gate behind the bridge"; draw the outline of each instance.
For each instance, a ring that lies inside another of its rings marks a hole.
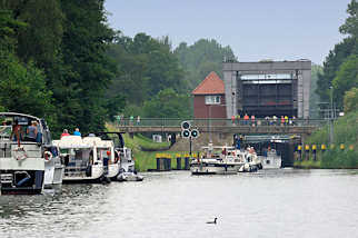
[[[241,79],[242,76],[282,76],[289,75],[290,78],[286,80],[278,79],[262,79],[258,77],[259,80],[245,80]],[[275,82],[276,80],[276,82]],[[290,116],[296,116],[298,118],[309,117],[309,90],[311,81],[311,61],[309,60],[298,60],[298,61],[263,61],[263,62],[223,62],[223,82],[226,92],[226,110],[227,118],[238,113],[245,113],[249,110],[252,113],[258,113],[263,116],[266,112],[263,110],[270,110],[269,115],[285,116],[288,113]],[[245,85],[246,83],[246,85]],[[253,100],[248,98],[242,98],[247,90],[247,83],[251,86],[257,86],[257,99]],[[266,86],[272,86],[277,83],[276,99],[265,100],[265,97],[269,97],[261,92],[262,88]],[[289,85],[287,89],[291,89],[291,92],[285,96],[281,95],[284,83]],[[261,89],[260,89],[261,88]],[[285,103],[279,99],[285,99]],[[265,101],[272,101],[271,105],[265,105]],[[274,107],[275,105],[275,107]]]

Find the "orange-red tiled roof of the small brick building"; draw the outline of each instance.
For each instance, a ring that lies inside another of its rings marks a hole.
[[[211,71],[200,85],[192,90],[191,95],[225,95],[223,81]]]

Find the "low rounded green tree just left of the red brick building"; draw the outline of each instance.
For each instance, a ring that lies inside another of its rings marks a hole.
[[[188,95],[179,95],[171,88],[165,89],[151,100],[145,102],[145,116],[151,118],[187,118],[190,116],[189,101]]]

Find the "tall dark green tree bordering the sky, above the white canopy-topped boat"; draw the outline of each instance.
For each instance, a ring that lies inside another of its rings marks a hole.
[[[103,0],[61,0],[64,16],[61,59],[50,89],[60,127],[100,130],[107,119],[103,93],[116,73],[106,54],[115,32],[108,27]]]

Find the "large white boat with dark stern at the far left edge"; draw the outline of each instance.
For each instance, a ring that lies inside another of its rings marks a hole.
[[[16,112],[0,112],[0,187],[2,195],[41,194],[44,177],[44,151],[51,135],[43,119]],[[28,138],[27,128],[37,122],[37,138]],[[13,125],[18,126],[13,126]],[[20,138],[13,141],[12,129]]]

